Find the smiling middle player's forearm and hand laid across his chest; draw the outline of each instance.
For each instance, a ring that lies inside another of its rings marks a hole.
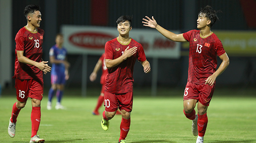
[[[115,67],[121,62],[125,61],[128,57],[133,56],[136,53],[138,47],[132,47],[129,49],[129,46],[125,49],[124,54],[116,59],[105,59],[106,67],[108,69]]]

